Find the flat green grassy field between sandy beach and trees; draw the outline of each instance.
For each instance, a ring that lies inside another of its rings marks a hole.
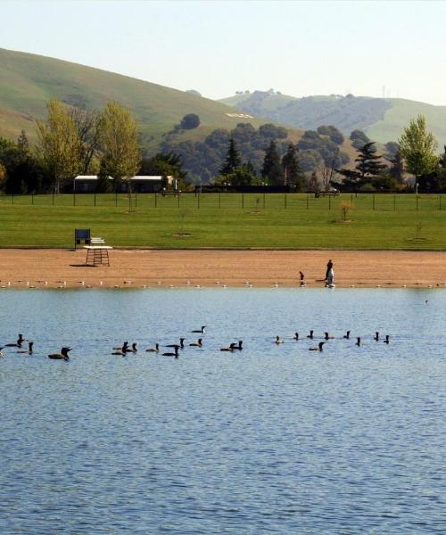
[[[139,193],[134,203],[129,211],[125,194],[0,196],[0,247],[72,247],[78,227],[114,246],[446,250],[441,195]]]

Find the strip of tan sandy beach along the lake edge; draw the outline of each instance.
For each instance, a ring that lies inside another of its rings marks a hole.
[[[113,250],[110,267],[85,265],[86,251],[1,249],[0,286],[323,286],[332,259],[340,287],[446,287],[446,253],[417,251]]]

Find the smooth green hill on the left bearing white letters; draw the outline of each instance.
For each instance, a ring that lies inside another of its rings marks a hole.
[[[31,138],[35,135],[35,119],[45,118],[45,104],[52,97],[87,108],[102,108],[116,100],[136,115],[146,141],[171,130],[187,113],[196,113],[203,128],[235,128],[241,120],[254,127],[266,122],[234,117],[237,112],[224,103],[170,87],[2,48],[0,80],[0,136],[12,138],[21,128]]]

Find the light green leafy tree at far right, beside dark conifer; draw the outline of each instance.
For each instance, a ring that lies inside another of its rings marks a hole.
[[[438,146],[434,135],[427,132],[424,115],[412,119],[404,128],[398,140],[401,156],[406,162],[406,169],[415,175],[416,180],[434,170],[438,158],[435,153]]]

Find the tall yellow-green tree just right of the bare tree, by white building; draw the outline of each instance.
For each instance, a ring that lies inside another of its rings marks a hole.
[[[105,106],[99,128],[103,145],[101,175],[127,181],[128,192],[132,193],[129,178],[136,175],[141,163],[136,120],[130,111],[111,101]]]

